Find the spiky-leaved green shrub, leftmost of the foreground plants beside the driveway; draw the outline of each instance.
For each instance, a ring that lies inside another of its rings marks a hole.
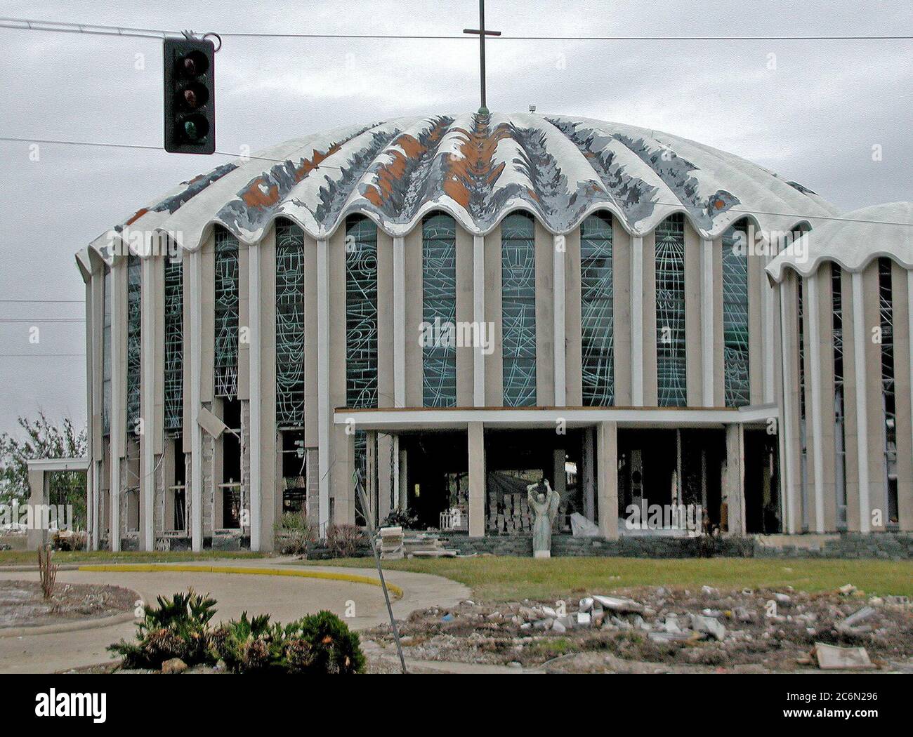
[[[215,663],[209,620],[215,615],[215,599],[187,593],[158,597],[158,607],[142,607],[136,642],[121,640],[109,646],[123,657],[125,668],[159,670],[165,660],[180,658],[188,666]]]

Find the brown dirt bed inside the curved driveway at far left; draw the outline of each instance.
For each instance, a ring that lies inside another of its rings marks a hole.
[[[130,611],[136,593],[121,586],[60,584],[45,599],[37,581],[0,580],[0,628],[41,627]]]

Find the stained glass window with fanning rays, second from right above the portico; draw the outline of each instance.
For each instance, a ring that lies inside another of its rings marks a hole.
[[[685,375],[685,217],[656,227],[656,388],[660,407],[687,404]]]

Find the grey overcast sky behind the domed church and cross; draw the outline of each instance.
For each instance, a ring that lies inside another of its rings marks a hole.
[[[909,0],[488,0],[515,36],[890,35]],[[0,16],[166,30],[459,34],[475,0],[0,2]],[[217,147],[251,151],[401,115],[478,107],[477,42],[226,37]],[[771,54],[774,57],[771,57]],[[775,61],[771,65],[771,60]],[[773,66],[774,68],[771,68]],[[162,143],[162,42],[0,28],[0,136]],[[852,210],[913,200],[913,42],[491,41],[488,107],[607,119],[732,151]],[[880,145],[882,161],[872,160]],[[85,421],[83,305],[73,254],[177,182],[226,161],[0,141],[0,431],[39,408]],[[11,319],[25,319],[13,322]],[[29,342],[29,328],[40,342]],[[58,354],[59,357],[12,354]]]

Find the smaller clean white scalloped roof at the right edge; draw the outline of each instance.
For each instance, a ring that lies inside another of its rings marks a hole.
[[[775,282],[791,268],[808,276],[824,261],[862,271],[879,256],[913,269],[913,202],[887,202],[846,213],[804,234],[767,266]]]

